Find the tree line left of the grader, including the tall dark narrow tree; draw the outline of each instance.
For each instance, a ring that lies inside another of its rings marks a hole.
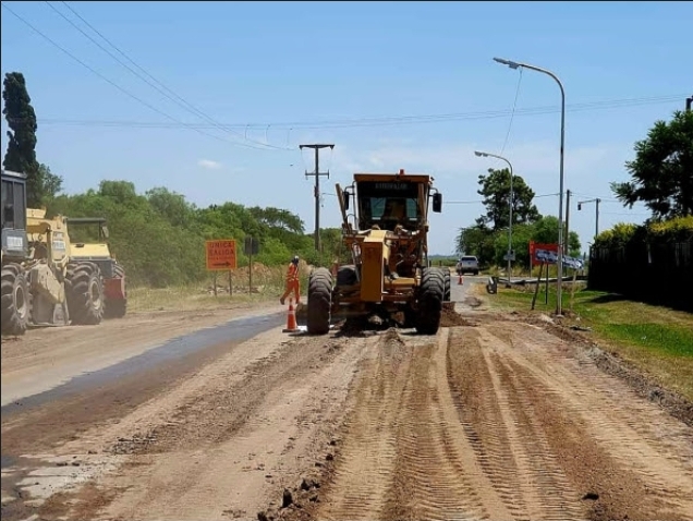
[[[341,230],[320,230],[321,252],[316,252],[314,237],[305,232],[301,218],[281,208],[231,202],[198,208],[166,187],[139,194],[133,183],[122,180],[101,181],[97,190],[82,194],[62,194],[63,178],[36,157],[37,118],[22,73],[5,74],[2,98],[10,129],[2,165],[27,175],[28,207],[45,207],[49,216],[105,217],[111,251],[134,284],[166,287],[204,279],[208,239],[235,239],[239,266],[248,263],[243,253],[248,235],[260,246],[254,259],[266,265],[287,264],[293,255],[309,264],[329,265],[346,254]],[[97,239],[94,230],[71,233],[75,241]]]

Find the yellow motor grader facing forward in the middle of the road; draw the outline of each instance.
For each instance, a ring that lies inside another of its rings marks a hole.
[[[450,270],[428,260],[429,206],[442,209],[433,178],[404,170],[355,173],[351,186],[336,189],[342,244],[352,262],[335,266],[336,275],[326,267],[312,270],[307,305],[296,318],[312,335],[327,334],[335,320],[372,315],[435,335],[442,304],[450,301]]]

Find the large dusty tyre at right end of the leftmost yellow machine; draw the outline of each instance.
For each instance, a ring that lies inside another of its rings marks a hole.
[[[96,326],[104,318],[101,270],[94,263],[71,263],[65,277],[71,324]]]

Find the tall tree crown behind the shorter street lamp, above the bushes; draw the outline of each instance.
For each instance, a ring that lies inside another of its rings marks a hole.
[[[478,184],[482,186],[478,194],[484,197],[486,214],[477,219],[479,225],[490,225],[490,229],[496,231],[507,228],[510,222],[510,170],[488,169],[487,175],[478,177]],[[532,204],[534,191],[524,182],[520,175],[512,177],[512,222],[531,223],[537,220],[540,215],[537,207]]]

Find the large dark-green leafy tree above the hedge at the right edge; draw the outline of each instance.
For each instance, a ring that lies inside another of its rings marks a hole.
[[[658,219],[693,215],[693,111],[657,121],[634,149],[625,162],[632,180],[611,183],[619,201],[631,208],[642,202]]]

